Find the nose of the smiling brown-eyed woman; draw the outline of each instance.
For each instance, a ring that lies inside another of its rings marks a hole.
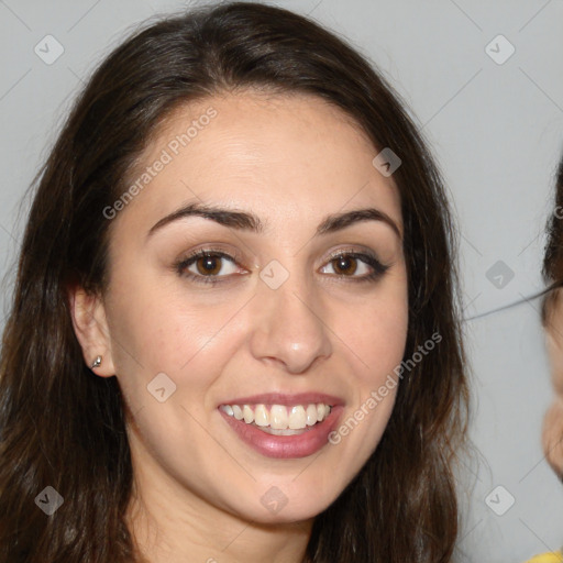
[[[302,374],[332,353],[331,331],[323,319],[318,290],[305,276],[290,274],[277,289],[260,283],[253,299],[251,352],[262,362],[277,363]]]

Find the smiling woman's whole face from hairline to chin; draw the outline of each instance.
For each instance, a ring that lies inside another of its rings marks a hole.
[[[147,506],[309,519],[377,446],[397,389],[369,399],[408,322],[400,199],[377,152],[319,98],[213,97],[174,113],[106,210],[103,362]]]

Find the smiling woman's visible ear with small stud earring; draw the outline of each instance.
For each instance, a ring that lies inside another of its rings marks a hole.
[[[86,365],[100,377],[115,375],[110,332],[101,297],[88,294],[77,286],[68,289],[68,305]],[[102,357],[101,364],[92,368],[91,365],[98,356]]]

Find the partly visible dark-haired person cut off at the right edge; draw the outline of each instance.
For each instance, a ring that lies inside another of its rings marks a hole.
[[[559,357],[563,356],[562,295],[563,286],[563,158],[555,179],[555,207],[547,225],[548,240],[543,256],[543,279],[548,285],[542,300],[541,321],[552,354],[552,378],[555,398],[545,413],[542,431],[543,450],[548,462],[560,479],[563,479],[563,373]]]

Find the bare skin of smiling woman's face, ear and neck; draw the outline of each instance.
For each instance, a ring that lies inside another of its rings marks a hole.
[[[102,355],[95,373],[115,375],[125,397],[134,470],[128,521],[148,560],[298,562],[314,516],[377,446],[397,389],[338,445],[289,460],[242,442],[218,406],[320,391],[342,398],[343,421],[385,382],[402,360],[408,324],[400,198],[393,177],[372,165],[378,151],[360,128],[308,95],[246,90],[184,106],[139,170],[209,107],[217,117],[112,220],[108,292],[74,291],[73,319],[85,361]],[[252,211],[266,231],[190,217],[147,239],[191,201]],[[387,213],[399,234],[369,220],[314,236],[327,216],[365,207]],[[219,262],[227,282],[197,284],[174,271],[210,244],[239,256],[235,265]],[[330,257],[339,250],[372,251],[389,267],[360,283],[372,268],[357,260],[339,277]],[[289,273],[275,290],[258,276],[272,260]],[[177,388],[159,402],[146,386],[163,372]],[[272,486],[287,498],[276,514],[261,503]]]

